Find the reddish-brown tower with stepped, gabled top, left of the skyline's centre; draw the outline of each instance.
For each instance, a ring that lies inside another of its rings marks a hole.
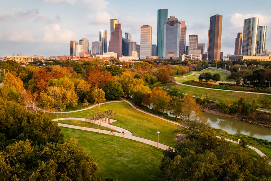
[[[122,55],[121,33],[121,25],[118,23],[115,25],[115,30],[111,31],[111,37],[108,46],[108,51],[117,53],[117,58],[121,57]]]

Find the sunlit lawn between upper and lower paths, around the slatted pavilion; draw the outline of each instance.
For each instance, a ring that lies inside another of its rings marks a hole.
[[[106,103],[101,107],[94,107],[89,110],[79,111],[75,113],[63,113],[63,116],[59,114],[58,118],[62,117],[80,117],[85,118],[86,114],[95,113],[99,111],[106,111],[113,109],[118,113],[119,120],[111,123],[112,125],[124,128],[132,132],[134,136],[146,138],[152,141],[157,141],[157,131],[159,133],[159,142],[171,147],[176,144],[176,133],[173,131],[176,129],[176,125],[166,122],[164,120],[149,116],[141,113],[132,108],[126,102],[114,102]],[[52,119],[56,118],[55,114],[51,114]],[[97,126],[96,126],[97,128]]]

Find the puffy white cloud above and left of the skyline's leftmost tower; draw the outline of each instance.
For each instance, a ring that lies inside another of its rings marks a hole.
[[[43,41],[48,43],[68,43],[70,40],[78,39],[76,33],[71,30],[61,29],[58,24],[43,28]]]

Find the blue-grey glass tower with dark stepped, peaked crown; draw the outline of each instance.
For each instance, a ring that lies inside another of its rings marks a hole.
[[[164,25],[164,57],[168,52],[180,57],[181,23],[175,16],[170,16]],[[182,52],[184,52],[183,49]]]

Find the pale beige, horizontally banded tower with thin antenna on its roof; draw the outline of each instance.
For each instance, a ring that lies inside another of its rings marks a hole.
[[[151,26],[143,25],[140,27],[140,58],[147,56],[151,56]]]

